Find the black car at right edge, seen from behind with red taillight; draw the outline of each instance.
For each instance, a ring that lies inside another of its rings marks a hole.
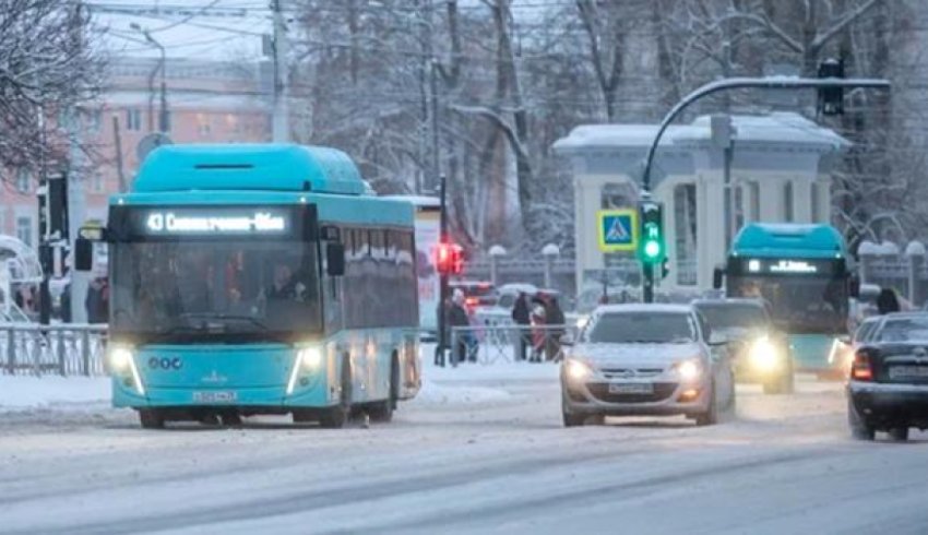
[[[860,440],[873,440],[877,431],[907,440],[909,428],[928,429],[928,313],[887,314],[857,348],[847,419]]]

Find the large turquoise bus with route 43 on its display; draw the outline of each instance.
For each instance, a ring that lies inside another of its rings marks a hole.
[[[109,203],[112,403],[145,428],[389,420],[420,387],[414,210],[342,152],[175,145]]]

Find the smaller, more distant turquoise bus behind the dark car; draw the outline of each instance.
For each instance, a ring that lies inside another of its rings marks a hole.
[[[835,341],[847,334],[850,259],[829,225],[749,224],[735,237],[723,278],[728,297],[762,298],[789,335],[796,369],[829,371]]]

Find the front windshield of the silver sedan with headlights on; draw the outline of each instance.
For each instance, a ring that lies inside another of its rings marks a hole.
[[[685,344],[695,340],[690,314],[683,312],[604,312],[584,331],[593,344]]]

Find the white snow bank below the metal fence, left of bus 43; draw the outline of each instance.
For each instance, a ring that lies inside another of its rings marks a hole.
[[[0,376],[0,412],[108,404],[109,400],[108,378]]]

